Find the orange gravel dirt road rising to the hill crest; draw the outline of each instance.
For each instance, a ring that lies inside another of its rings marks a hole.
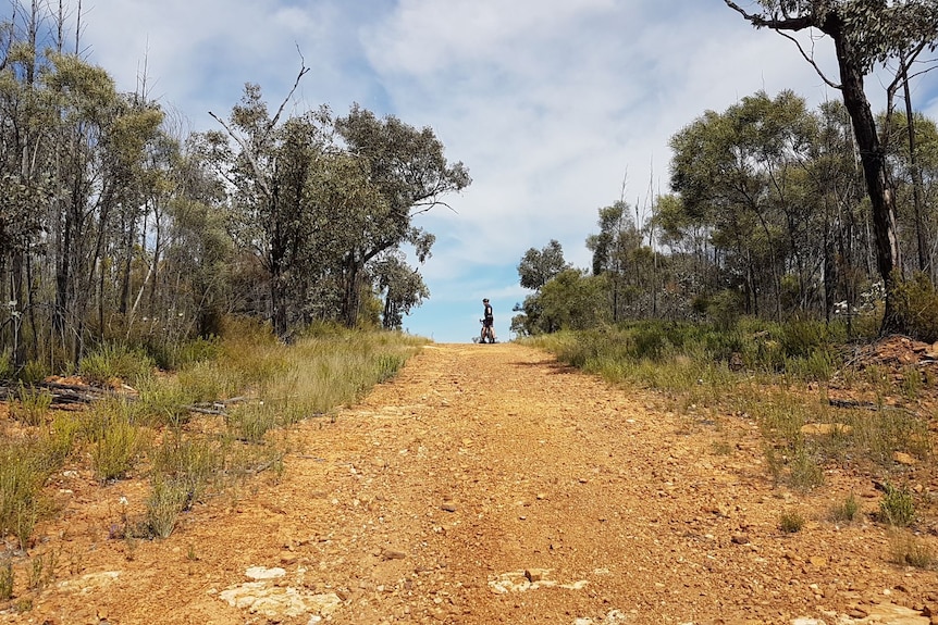
[[[754,423],[674,414],[516,345],[427,347],[361,404],[299,426],[279,482],[196,507],[163,541],[107,537],[118,498],[133,505],[143,486],[94,501],[79,486],[67,525],[44,529],[54,584],[0,623],[927,625],[938,613],[938,574],[890,564],[883,527],[826,520],[851,490],[876,510],[868,479],[774,487]],[[779,529],[786,512],[801,532]]]

